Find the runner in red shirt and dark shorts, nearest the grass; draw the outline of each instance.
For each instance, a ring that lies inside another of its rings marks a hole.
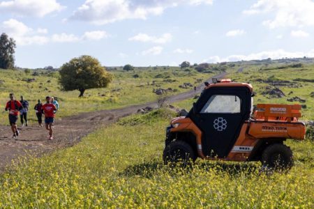
[[[41,108],[43,111],[43,114],[45,114],[45,125],[46,129],[49,130],[49,139],[52,138],[52,125],[54,124],[54,111],[57,110],[56,106],[51,103],[50,96],[46,97],[46,104],[43,105]]]

